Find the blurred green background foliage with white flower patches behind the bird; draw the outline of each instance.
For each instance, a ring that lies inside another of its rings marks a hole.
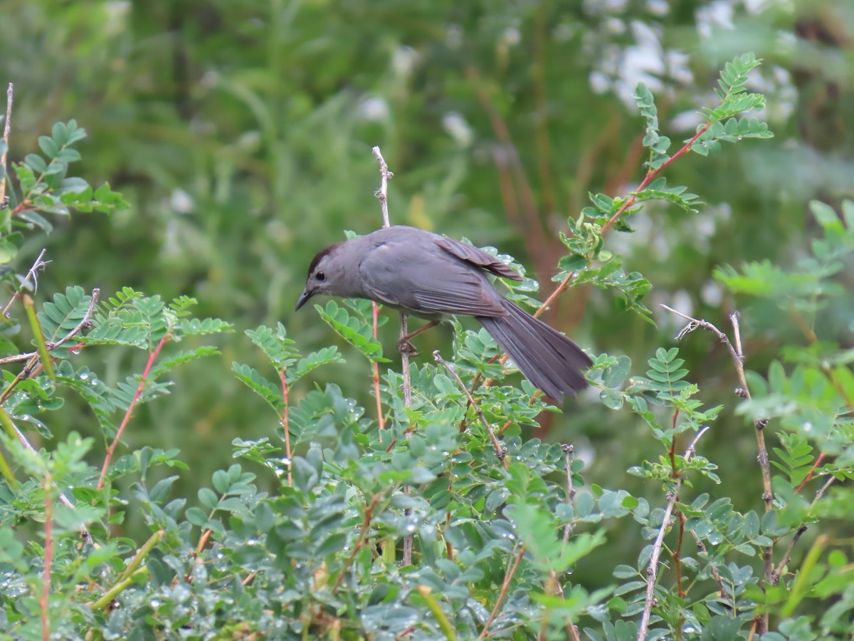
[[[0,80],[15,83],[10,159],[35,149],[55,121],[75,118],[89,132],[77,170],[131,205],[56,221],[53,235],[28,241],[18,270],[46,246],[53,262],[41,297],[72,284],[129,285],[197,297],[199,315],[237,326],[219,339],[221,360],[179,370],[173,396],[139,410],[126,432],[134,449],[180,448],[194,471],[182,479],[185,496],[227,467],[232,438],[277,426],[229,374],[232,360],[258,357],[243,329],[282,321],[303,351],[336,341],[313,309],[293,308],[317,250],[344,230],[381,223],[374,144],[395,172],[393,222],[498,246],[529,266],[545,297],[567,217],[588,192],[621,195],[642,178],[637,82],[655,93],[662,132],[678,141],[714,102],[723,62],[745,51],[763,58],[752,89],[768,97],[759,117],[775,138],[674,163],[670,184],[699,194],[707,203],[699,215],[649,204],[632,219],[635,233],[607,238],[626,271],[652,282],[647,303],[658,326],[586,289],[549,312],[583,347],[638,365],[671,346],[679,327],[658,303],[727,326],[739,301],[714,269],[763,258],[785,268],[814,231],[807,201],[854,196],[850,0],[7,0],[0,43]],[[748,368],[764,373],[775,341],[802,342],[776,307],[742,312]],[[854,309],[834,313],[850,319]],[[395,326],[383,328],[387,350]],[[422,354],[449,337],[419,339]],[[851,346],[850,335],[834,338]],[[346,396],[372,407],[366,362],[344,354],[352,375],[330,373]],[[743,488],[739,509],[758,509],[756,440],[732,413],[726,350],[695,335],[681,356],[704,402],[726,405],[704,456]],[[144,358],[136,356],[136,371]],[[628,412],[591,395],[549,415],[541,436],[575,444],[588,479],[643,494],[624,470],[656,456],[657,444]],[[97,436],[82,406],[76,418],[63,416],[68,425],[54,433]],[[615,534],[612,543],[627,542]]]

